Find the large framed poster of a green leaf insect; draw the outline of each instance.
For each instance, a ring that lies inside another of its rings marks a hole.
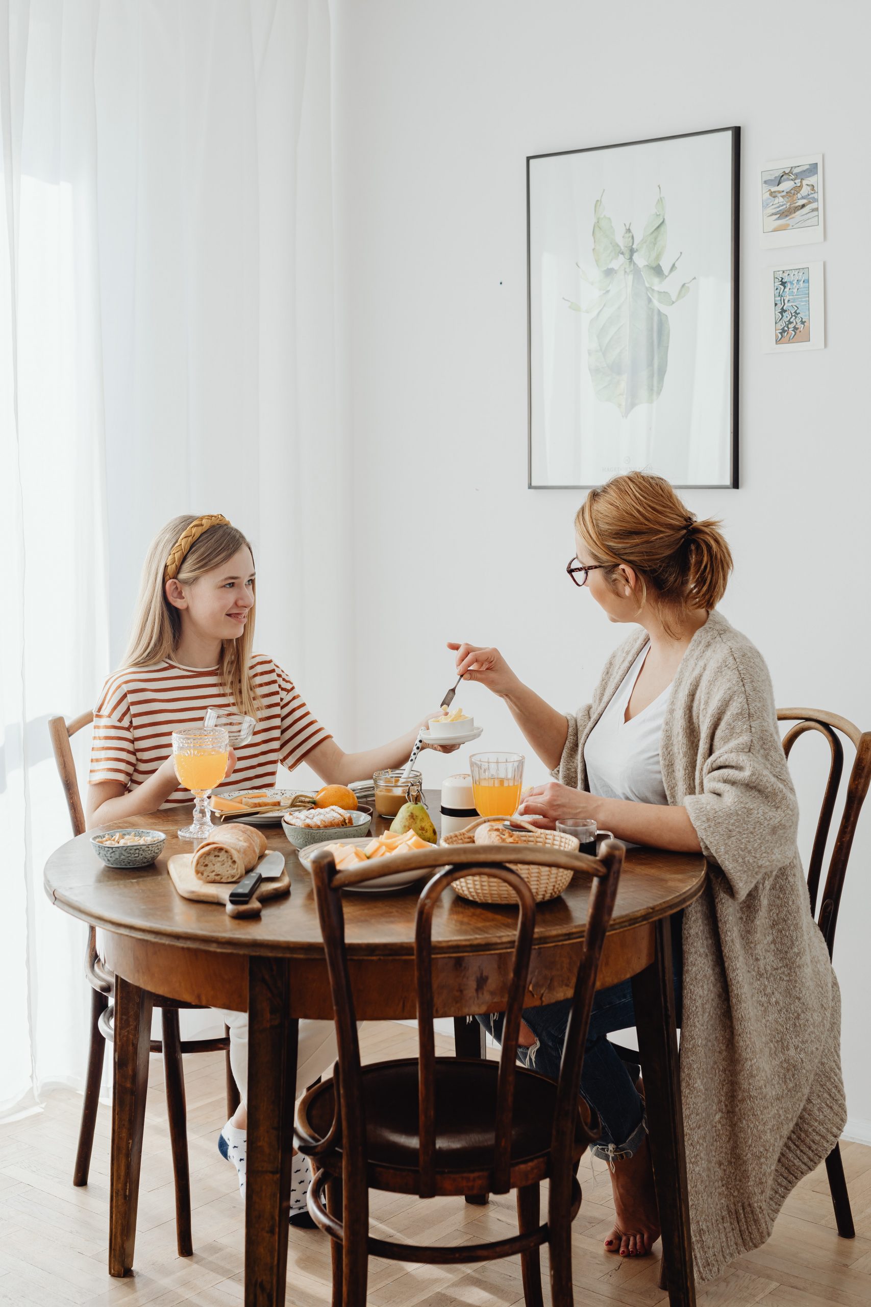
[[[526,159],[529,485],[738,485],[740,128]]]

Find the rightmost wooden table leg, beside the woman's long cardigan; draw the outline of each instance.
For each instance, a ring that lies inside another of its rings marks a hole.
[[[695,1307],[687,1158],[683,1138],[678,1031],[671,971],[671,923],[657,921],[657,953],[632,980],[639,1053],[650,1127],[650,1155],[662,1225],[671,1307]]]

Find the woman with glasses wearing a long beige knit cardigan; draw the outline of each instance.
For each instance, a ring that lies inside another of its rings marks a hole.
[[[627,843],[703,852],[704,895],[673,919],[680,1084],[696,1270],[714,1278],[770,1234],[798,1180],[846,1120],[840,995],[810,912],[798,805],[770,678],[717,612],[733,561],[661,477],[592,490],[568,575],[611,622],[640,627],[607,660],[592,701],[563,715],[495,648],[451,644],[457,672],[508,704],[554,780],[518,813],[552,829],[590,817]],[[558,1076],[568,1002],[524,1012],[526,1065]],[[501,1031],[500,1017],[482,1017]],[[629,982],[597,995],[581,1094],[593,1151],[610,1163],[622,1256],[659,1235],[639,1067],[606,1035],[635,1025]]]

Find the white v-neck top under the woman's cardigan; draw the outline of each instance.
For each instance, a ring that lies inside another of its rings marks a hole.
[[[584,745],[589,792],[602,799],[631,799],[637,804],[669,802],[662,784],[659,740],[671,686],[667,685],[653,703],[629,721],[624,720],[627,703],[649,648],[649,643],[644,646]]]

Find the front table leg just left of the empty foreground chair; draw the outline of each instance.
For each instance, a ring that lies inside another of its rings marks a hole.
[[[298,1022],[290,1009],[290,966],[248,962],[248,1157],[245,1307],[283,1307],[287,1280],[290,1168],[296,1097]]]

